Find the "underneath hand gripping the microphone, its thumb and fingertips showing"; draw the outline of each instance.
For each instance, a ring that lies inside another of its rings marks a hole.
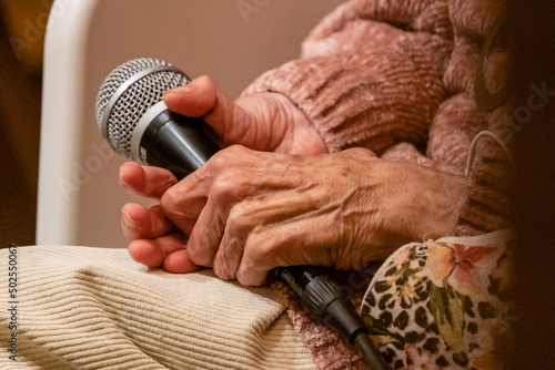
[[[210,78],[201,76],[186,86],[168,91],[164,102],[173,112],[202,116],[225,145],[242,144],[276,153],[327,152],[307,117],[281,94],[256,94],[233,102]],[[152,198],[160,198],[178,182],[164,169],[143,172],[133,163],[122,166],[120,179],[128,192]],[[129,251],[138,261],[148,266],[163,265],[174,273],[198,269],[184,250],[186,235],[168,223],[160,206],[147,209],[139,204],[127,204],[122,209],[122,226],[132,241]]]

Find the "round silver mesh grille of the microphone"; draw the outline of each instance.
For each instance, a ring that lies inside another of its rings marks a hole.
[[[134,59],[113,70],[100,86],[95,106],[97,123],[110,146],[134,160],[131,136],[139,120],[163,100],[164,91],[189,82],[183,72],[158,59]]]

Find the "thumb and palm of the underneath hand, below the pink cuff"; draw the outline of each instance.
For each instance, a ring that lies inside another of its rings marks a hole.
[[[324,141],[304,113],[278,93],[232,101],[210,78],[165,92],[170,111],[199,117],[214,129],[225,146],[241,144],[255,151],[322,154]]]

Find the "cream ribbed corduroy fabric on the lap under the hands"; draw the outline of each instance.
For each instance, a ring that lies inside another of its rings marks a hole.
[[[270,288],[124,249],[2,249],[0,266],[1,369],[315,369]]]

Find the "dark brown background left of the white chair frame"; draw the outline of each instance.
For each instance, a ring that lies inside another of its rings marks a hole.
[[[0,2],[0,247],[34,244],[42,25],[51,2]]]

